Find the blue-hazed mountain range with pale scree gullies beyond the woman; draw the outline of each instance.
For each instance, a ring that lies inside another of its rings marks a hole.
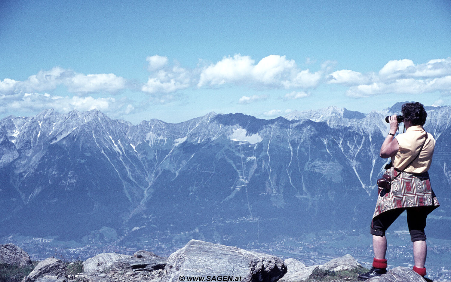
[[[328,107],[273,120],[216,114],[133,125],[101,111],[52,109],[0,120],[0,236],[226,245],[368,230],[385,116]],[[436,139],[429,171],[451,224],[451,107],[427,107]],[[400,126],[402,132],[402,125]],[[446,231],[446,229],[448,230]]]

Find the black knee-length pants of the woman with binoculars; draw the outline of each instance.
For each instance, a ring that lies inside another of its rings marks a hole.
[[[376,236],[385,236],[385,231],[387,231],[388,227],[395,222],[401,213],[407,210],[407,225],[409,226],[410,239],[412,242],[426,240],[426,235],[424,234],[426,218],[434,208],[437,207],[423,206],[388,210],[373,218],[370,233]]]

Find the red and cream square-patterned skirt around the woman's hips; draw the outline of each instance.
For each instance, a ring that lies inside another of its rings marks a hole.
[[[438,207],[440,205],[432,190],[427,171],[423,173],[400,173],[392,167],[385,173],[395,180],[391,182],[391,189],[384,188],[379,191],[373,218],[395,208]],[[397,176],[399,173],[400,175]]]

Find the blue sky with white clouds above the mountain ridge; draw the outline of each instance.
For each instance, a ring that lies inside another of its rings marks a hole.
[[[451,104],[451,1],[0,1],[0,118]]]

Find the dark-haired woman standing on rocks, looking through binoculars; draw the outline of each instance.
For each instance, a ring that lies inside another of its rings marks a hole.
[[[439,206],[431,188],[428,169],[431,166],[435,140],[426,133],[423,125],[428,116],[419,102],[405,103],[401,110],[404,116],[405,133],[395,138],[398,130],[396,115],[391,116],[390,132],[382,143],[380,156],[391,157],[392,166],[386,171],[391,176],[391,187],[380,190],[371,222],[373,235],[373,267],[360,274],[359,280],[387,273],[387,238],[385,231],[407,210],[407,224],[414,245],[414,271],[426,275],[427,246],[424,227],[426,217]],[[428,278],[425,278],[427,281]]]

